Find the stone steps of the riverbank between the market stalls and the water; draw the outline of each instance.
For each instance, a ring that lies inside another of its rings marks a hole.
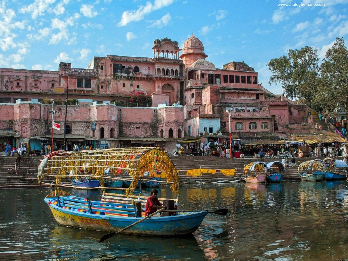
[[[42,156],[23,156],[22,163],[17,174],[11,168],[14,167],[15,156],[0,156],[0,189],[4,188],[35,188],[40,187],[37,179],[37,171]],[[342,159],[342,157],[338,157]],[[297,175],[298,162],[306,161],[314,158],[296,158],[296,166],[288,167],[285,170],[285,181],[299,180]],[[323,159],[323,158],[321,158]],[[248,163],[256,161],[256,159],[228,159],[219,157],[202,157],[202,156],[177,156],[173,157],[173,163],[179,170],[180,182],[196,182],[196,181],[218,181],[218,180],[234,180],[236,177],[243,175],[244,166]],[[266,163],[281,159],[263,159]],[[215,174],[202,174],[200,177],[191,177],[186,174],[188,169],[216,169]],[[220,169],[234,168],[235,176],[225,176]],[[43,182],[51,183],[53,177],[45,177]],[[68,180],[64,180],[64,183]],[[42,185],[47,187],[48,185]]]

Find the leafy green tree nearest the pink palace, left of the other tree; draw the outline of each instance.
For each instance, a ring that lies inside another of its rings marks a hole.
[[[267,63],[272,72],[269,84],[281,84],[286,97],[298,98],[311,106],[320,80],[317,53],[318,49],[306,46],[272,59]]]

